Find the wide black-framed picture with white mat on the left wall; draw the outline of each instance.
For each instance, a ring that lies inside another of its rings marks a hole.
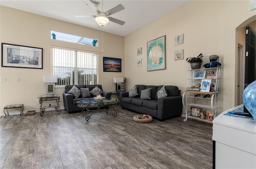
[[[43,49],[2,43],[1,66],[43,69]]]

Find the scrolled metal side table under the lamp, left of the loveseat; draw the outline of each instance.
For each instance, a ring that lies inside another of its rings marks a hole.
[[[55,108],[56,112],[58,112],[60,114],[60,105],[59,105],[59,102],[60,102],[60,96],[38,96],[37,97],[39,100],[39,104],[41,104],[40,106],[40,116],[43,116],[44,115],[44,112],[45,112],[45,109],[46,108],[50,108],[50,107],[53,107]],[[43,101],[49,101],[49,100],[56,100],[56,103],[57,103],[57,106],[56,105],[51,105],[49,104],[49,106],[42,106],[43,105]]]

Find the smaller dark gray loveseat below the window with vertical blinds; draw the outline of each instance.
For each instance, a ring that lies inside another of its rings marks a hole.
[[[82,98],[80,95],[79,98],[74,98],[72,94],[69,94],[68,91],[73,87],[76,86],[79,90],[80,88],[89,88],[89,91],[91,91],[94,87],[98,86],[100,90],[102,90],[101,85],[66,85],[65,86],[65,91],[63,93],[63,103],[64,103],[64,108],[68,111],[68,113],[73,113],[77,111],[82,111],[83,108],[80,108],[77,106],[77,101],[78,100],[85,100],[85,99],[90,99],[93,98],[94,96],[91,94],[90,98]],[[103,91],[103,90],[102,90]],[[101,94],[105,98],[110,98],[111,93],[110,92],[103,92]]]

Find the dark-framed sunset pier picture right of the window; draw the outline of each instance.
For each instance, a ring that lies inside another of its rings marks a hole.
[[[112,57],[103,57],[104,72],[122,72],[121,59]]]

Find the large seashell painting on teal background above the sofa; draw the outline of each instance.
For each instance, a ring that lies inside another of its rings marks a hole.
[[[165,35],[147,43],[148,71],[166,69]]]

